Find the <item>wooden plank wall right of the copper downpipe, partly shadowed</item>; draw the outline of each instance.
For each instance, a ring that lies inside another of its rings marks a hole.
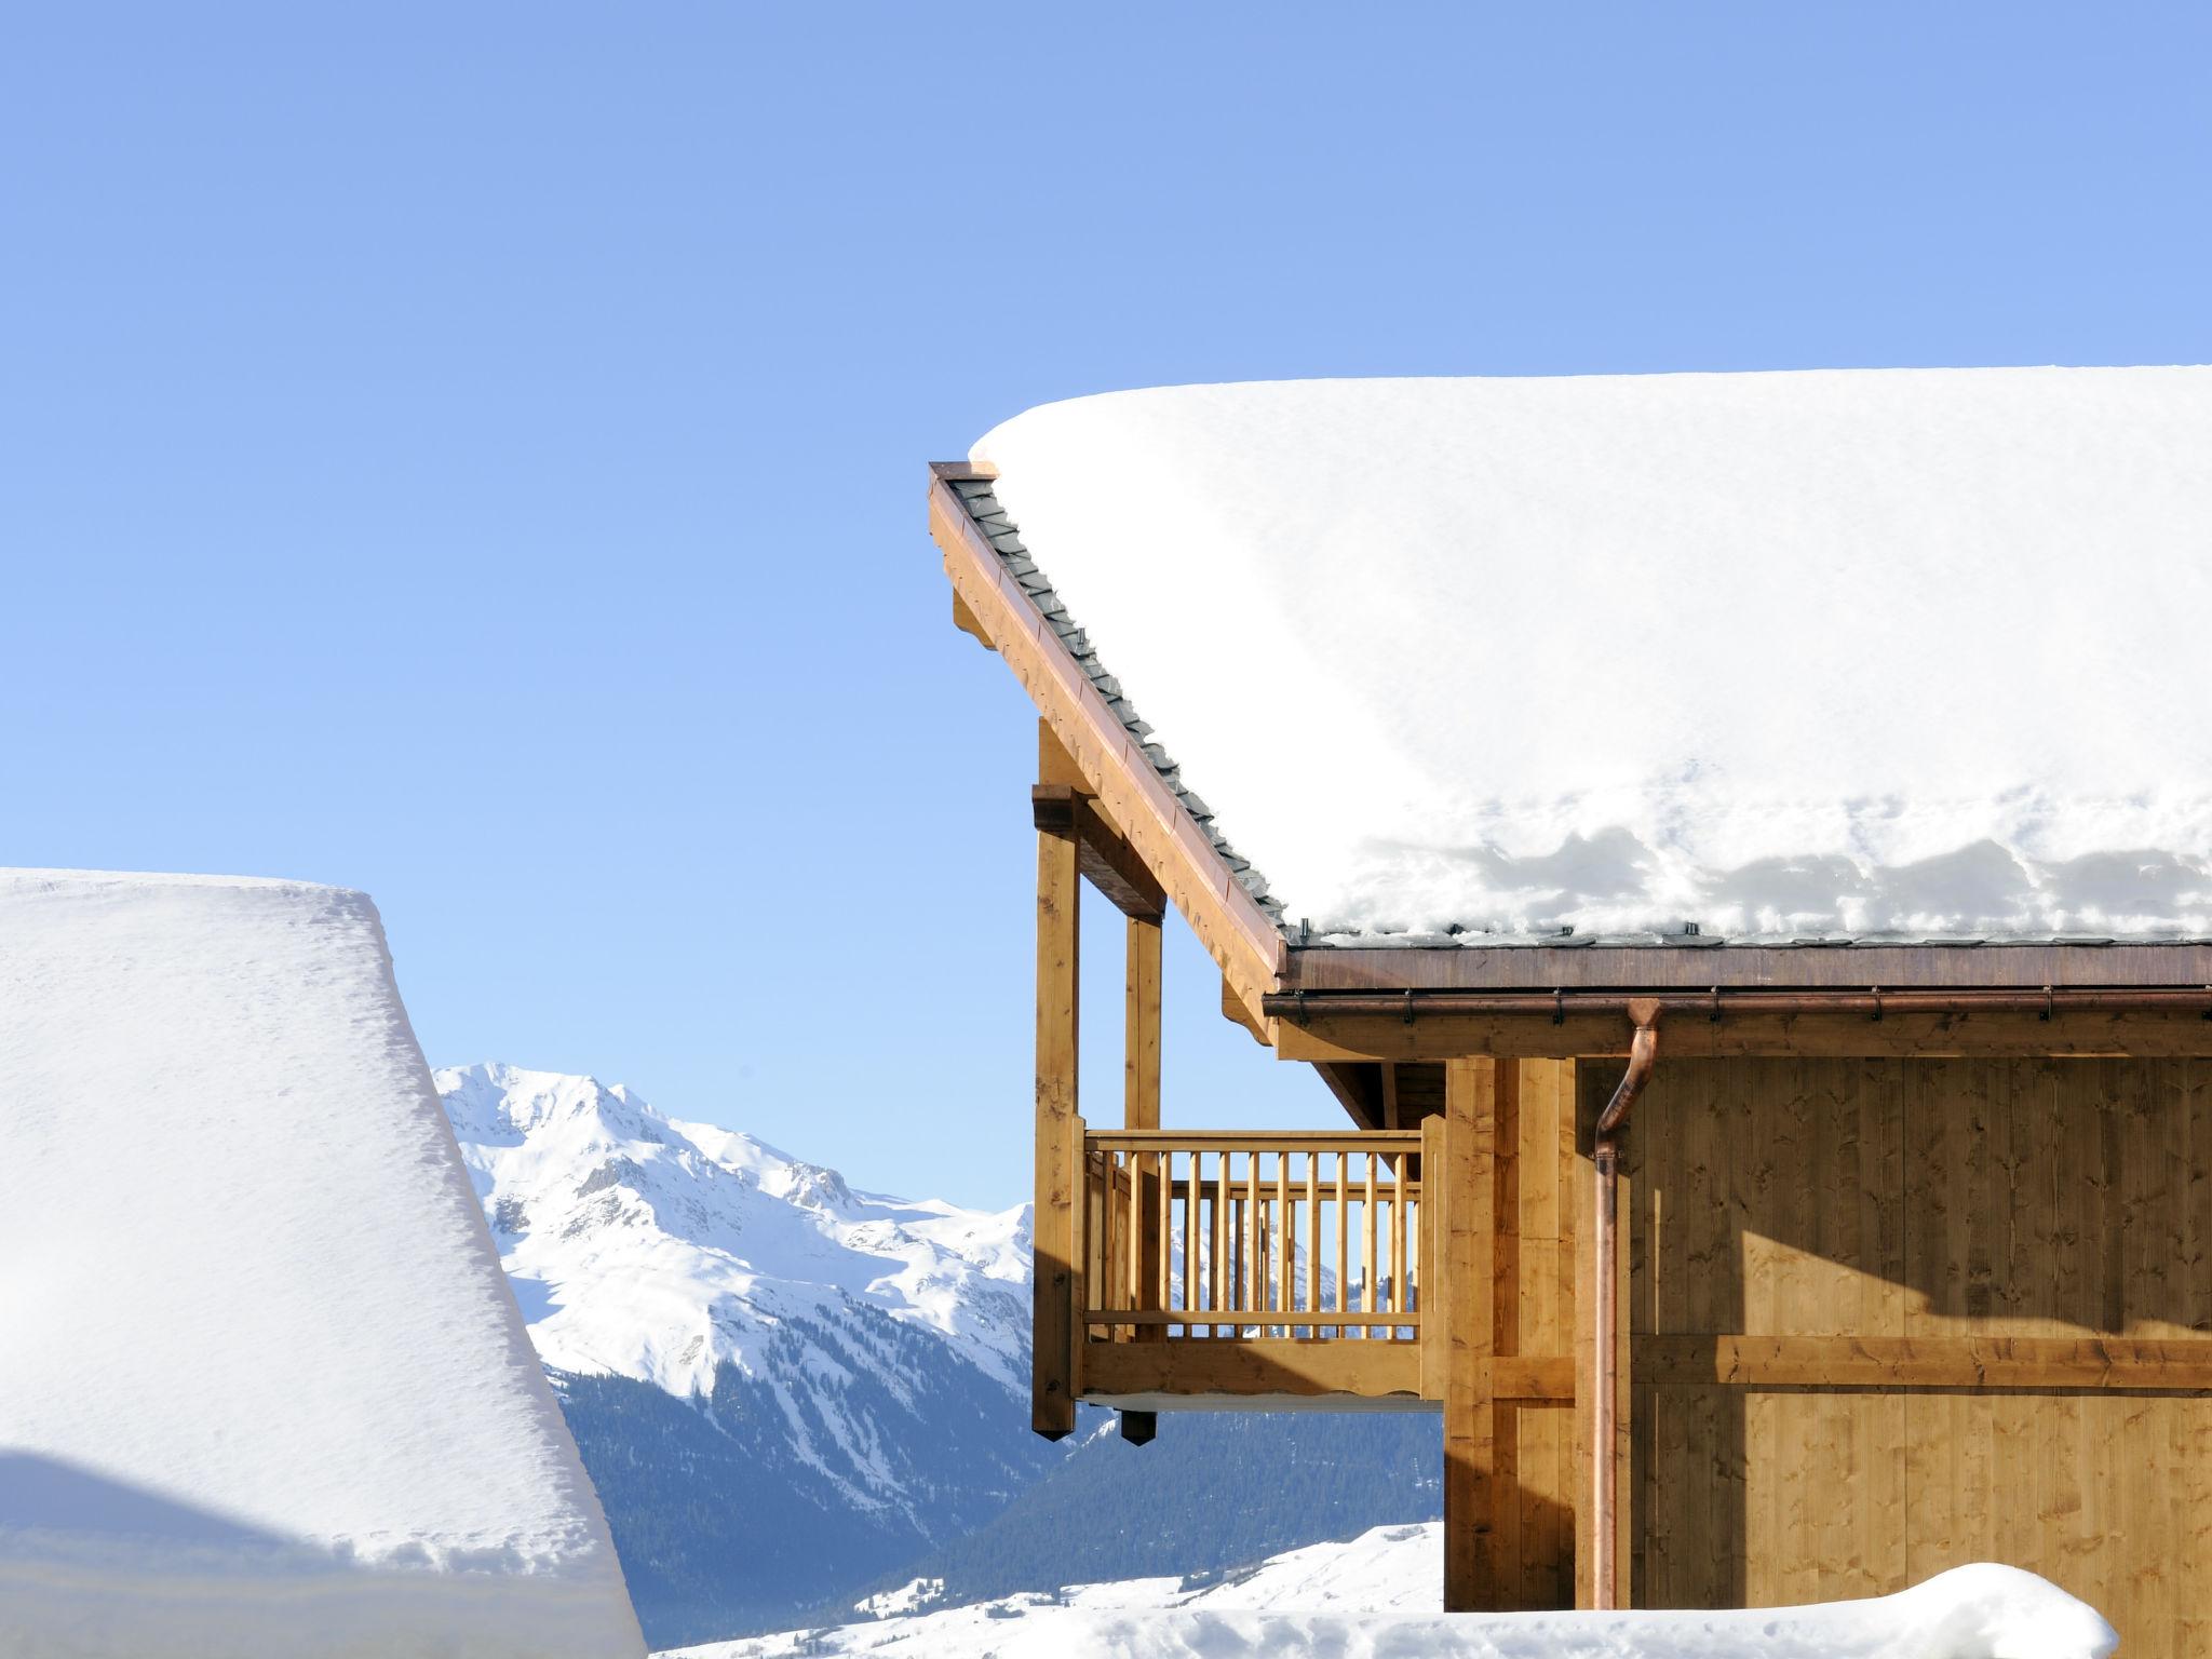
[[[1615,1075],[1584,1066],[1584,1110]],[[1730,1334],[1876,1338],[1922,1380],[1958,1374],[1958,1338],[2203,1356],[2208,1108],[2203,1060],[1661,1060],[1626,1159],[1635,1604],[2000,1559],[2101,1608],[2130,1659],[2212,1650],[2212,1396],[1655,1380],[1697,1352],[1670,1338]]]

